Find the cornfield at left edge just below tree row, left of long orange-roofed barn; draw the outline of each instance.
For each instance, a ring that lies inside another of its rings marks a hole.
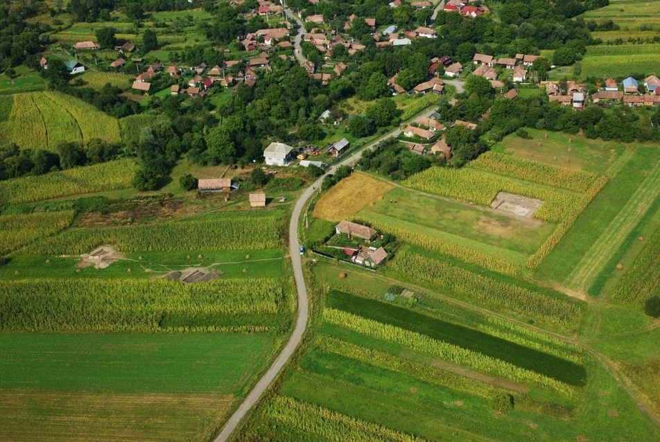
[[[0,182],[0,205],[21,204],[132,186],[137,163],[121,159]]]

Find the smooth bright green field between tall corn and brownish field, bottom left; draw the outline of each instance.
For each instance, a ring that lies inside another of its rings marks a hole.
[[[4,334],[0,388],[233,394],[272,345],[268,335]]]

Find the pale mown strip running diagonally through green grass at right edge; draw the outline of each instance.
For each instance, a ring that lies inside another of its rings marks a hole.
[[[598,240],[582,256],[564,283],[577,290],[587,290],[591,287],[611,254],[614,254],[628,237],[658,195],[660,195],[660,162],[651,170]]]

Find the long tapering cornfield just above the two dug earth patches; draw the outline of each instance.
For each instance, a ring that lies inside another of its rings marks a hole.
[[[134,227],[69,229],[21,249],[22,254],[80,255],[100,245],[119,251],[267,250],[281,245],[283,213],[218,213]]]

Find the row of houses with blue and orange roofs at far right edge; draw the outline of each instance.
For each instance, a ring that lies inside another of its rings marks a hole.
[[[632,77],[625,78],[619,85],[614,78],[605,80],[600,89],[591,94],[591,103],[613,104],[623,103],[630,107],[659,106],[660,105],[660,78],[648,76],[644,78],[642,85],[646,89],[645,94],[640,93],[640,82]],[[555,82],[546,83],[546,94],[550,101],[557,101],[574,109],[582,109],[587,102],[587,89],[584,85],[577,85],[574,81],[566,82],[566,94]]]

